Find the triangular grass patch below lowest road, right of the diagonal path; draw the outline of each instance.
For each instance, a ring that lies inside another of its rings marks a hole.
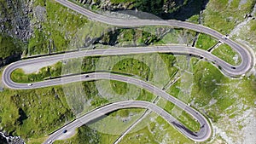
[[[152,120],[154,119],[154,120]],[[157,117],[155,113],[149,114],[140,124],[125,135],[120,141],[125,143],[192,143],[187,137],[178,132],[165,119]]]

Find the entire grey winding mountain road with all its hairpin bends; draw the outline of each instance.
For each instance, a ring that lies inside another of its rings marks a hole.
[[[12,81],[11,73],[22,66],[32,65],[32,64],[40,64],[44,61],[49,60],[65,60],[65,59],[72,59],[77,57],[84,57],[84,56],[106,56],[106,55],[137,55],[137,54],[146,54],[146,53],[173,53],[173,54],[183,54],[183,55],[197,55],[200,57],[204,57],[205,59],[212,61],[216,66],[221,66],[221,71],[224,72],[227,76],[236,77],[240,76],[248,72],[253,65],[253,57],[247,51],[247,49],[242,48],[236,42],[228,39],[223,38],[223,35],[201,25],[195,25],[184,21],[177,21],[177,20],[119,20],[108,18],[106,16],[102,16],[100,14],[95,14],[90,12],[87,9],[79,7],[78,5],[68,2],[66,0],[55,0],[58,3],[66,6],[69,9],[73,9],[80,14],[84,14],[85,16],[89,17],[91,20],[101,21],[103,23],[107,23],[109,25],[114,26],[174,26],[174,27],[182,27],[190,30],[194,30],[196,32],[203,32],[212,37],[218,38],[223,43],[227,43],[230,45],[232,49],[235,49],[236,52],[241,55],[241,64],[238,66],[231,66],[229,63],[225,62],[224,60],[219,59],[217,56],[212,55],[211,53],[202,50],[202,49],[195,49],[192,47],[186,47],[184,45],[163,45],[163,46],[150,46],[150,47],[136,47],[136,48],[117,48],[117,49],[90,49],[86,51],[77,51],[62,55],[50,55],[44,56],[34,59],[28,60],[20,60],[15,63],[10,64],[7,66],[3,71],[3,84],[5,84],[10,89],[36,89],[36,88],[43,88],[47,86],[53,85],[60,85],[60,84],[68,84],[73,82],[79,81],[91,81],[91,80],[98,80],[98,79],[111,79],[117,80],[129,84],[135,84],[143,89],[147,89],[154,95],[159,95],[165,98],[167,101],[171,101],[177,107],[182,108],[185,112],[188,112],[193,118],[195,118],[198,123],[201,124],[201,129],[197,132],[192,132],[188,130],[183,124],[179,123],[177,119],[173,118],[168,112],[161,109],[160,107],[147,102],[147,101],[119,101],[115,103],[108,104],[103,107],[98,107],[95,110],[86,113],[83,117],[74,120],[72,123],[65,125],[60,130],[55,131],[52,135],[49,135],[49,139],[44,143],[51,143],[55,141],[63,135],[63,130],[74,130],[80,127],[83,124],[87,124],[90,121],[102,117],[109,112],[113,112],[118,109],[122,108],[130,108],[130,107],[140,107],[140,108],[147,108],[153,112],[159,114],[162,118],[165,118],[167,122],[174,125],[177,130],[186,135],[191,140],[194,141],[206,141],[212,134],[211,126],[207,122],[207,119],[201,115],[200,112],[195,111],[192,107],[187,106],[182,101],[177,100],[177,98],[173,97],[172,95],[167,94],[164,90],[155,87],[152,84],[148,84],[137,78],[127,77],[123,75],[108,73],[108,72],[91,72],[84,75],[75,75],[70,77],[64,78],[55,78],[49,79],[43,82],[33,83],[32,85],[28,84],[18,84]]]

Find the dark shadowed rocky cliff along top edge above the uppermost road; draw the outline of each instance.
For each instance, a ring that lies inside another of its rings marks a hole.
[[[91,9],[131,10],[155,14],[162,19],[187,20],[205,9],[209,0],[73,0]]]

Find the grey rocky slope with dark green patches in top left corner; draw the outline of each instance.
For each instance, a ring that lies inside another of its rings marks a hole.
[[[0,66],[20,60],[32,34],[30,11],[25,0],[0,0]]]

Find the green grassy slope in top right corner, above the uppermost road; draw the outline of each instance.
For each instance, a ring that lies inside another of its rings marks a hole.
[[[239,9],[239,0],[211,0],[207,4],[207,9],[203,13],[205,26],[209,26],[223,34],[230,33],[235,26],[244,20],[245,14],[250,14],[256,3],[254,0],[248,0],[242,4]]]

